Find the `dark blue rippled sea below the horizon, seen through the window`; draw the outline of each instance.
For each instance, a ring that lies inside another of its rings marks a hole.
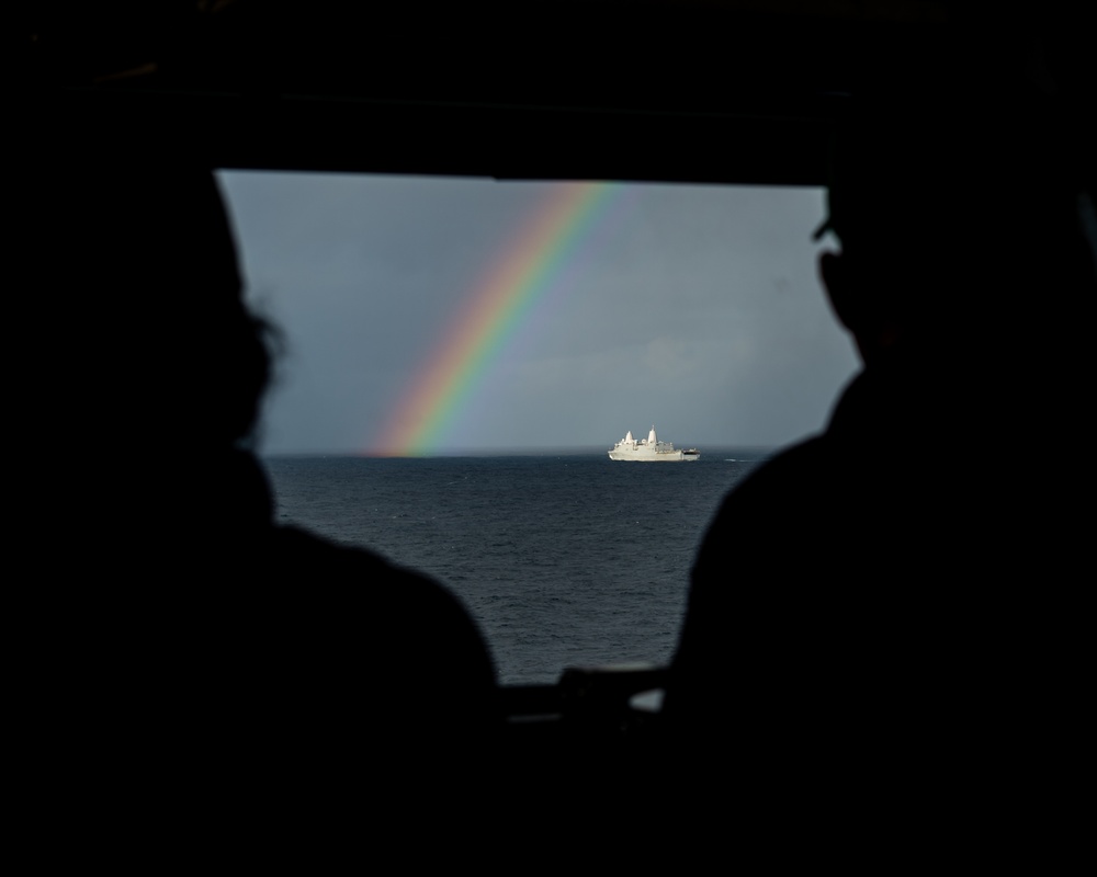
[[[765,452],[693,463],[600,453],[264,460],[278,515],[448,584],[479,623],[505,684],[565,667],[664,663],[689,567],[723,494]]]

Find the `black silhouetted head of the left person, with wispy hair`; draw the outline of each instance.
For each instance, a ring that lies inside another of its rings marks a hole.
[[[73,149],[39,167],[23,223],[39,405],[73,444],[210,453],[246,442],[269,379],[208,168]]]

